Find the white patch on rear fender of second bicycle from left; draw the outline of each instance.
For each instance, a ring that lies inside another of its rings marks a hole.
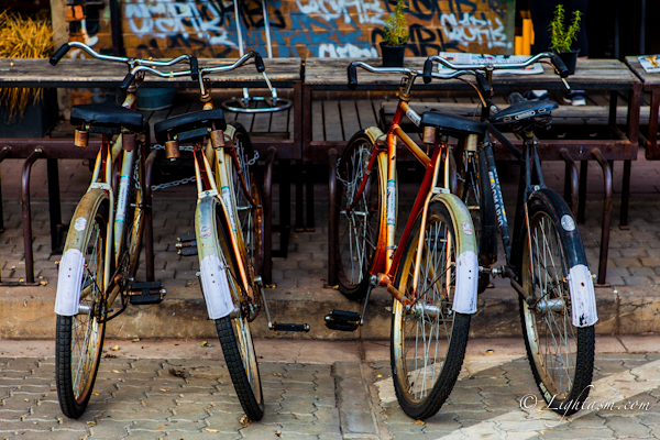
[[[227,279],[227,268],[218,255],[206,256],[201,261],[201,286],[210,319],[224,318],[233,311],[231,290]]]

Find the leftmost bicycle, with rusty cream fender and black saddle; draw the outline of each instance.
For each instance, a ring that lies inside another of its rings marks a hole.
[[[57,65],[72,47],[130,67],[167,67],[190,59],[189,55],[167,62],[116,57],[70,42],[57,50],[51,64]],[[57,279],[57,396],[62,411],[70,418],[82,415],[92,394],[106,323],[124,311],[129,302],[157,304],[165,295],[160,283],[134,282],[144,210],[150,204],[144,194],[150,136],[148,125],[135,111],[135,92],[143,77],[132,79],[124,84],[127,98],[121,106],[109,96],[105,102],[72,109],[70,121],[78,125],[75,145],[87,146],[89,133],[101,134],[102,140],[91,183],[68,229]],[[116,311],[112,307],[118,298],[121,308]]]

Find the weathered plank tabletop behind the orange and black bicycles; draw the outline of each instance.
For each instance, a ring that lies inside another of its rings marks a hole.
[[[374,67],[381,67],[381,58],[307,58],[305,62],[305,85],[316,89],[348,90],[346,67],[351,62],[361,61]],[[405,66],[424,68],[426,58],[411,57],[405,59]],[[554,74],[551,66],[542,64],[543,73],[539,75],[493,75],[496,90],[517,89],[564,89],[563,82]],[[464,77],[469,78],[469,77]],[[396,89],[402,80],[398,74],[372,74],[358,68],[358,84],[361,90]],[[627,90],[639,78],[617,59],[579,59],[575,75],[568,78],[574,89],[580,90]],[[471,87],[458,79],[435,79],[425,85],[421,78],[415,82],[417,89],[469,90]]]

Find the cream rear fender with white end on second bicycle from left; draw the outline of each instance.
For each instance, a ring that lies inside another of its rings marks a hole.
[[[201,290],[210,319],[224,318],[234,309],[228,279],[228,266],[222,262],[222,249],[218,242],[216,210],[217,197],[198,200],[195,211],[195,234],[199,255]]]

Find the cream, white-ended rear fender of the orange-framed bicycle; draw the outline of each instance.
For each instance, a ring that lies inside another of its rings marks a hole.
[[[463,201],[453,194],[439,194],[431,201],[439,201],[447,207],[457,228],[457,285],[452,307],[460,314],[474,314],[479,288],[479,258],[472,217]]]

